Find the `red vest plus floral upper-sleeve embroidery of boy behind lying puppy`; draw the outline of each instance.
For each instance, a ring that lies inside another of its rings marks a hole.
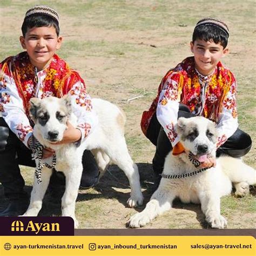
[[[204,108],[201,111],[202,116],[217,122],[224,106],[231,110],[232,116],[236,118],[236,83],[231,71],[225,69],[223,64],[219,62],[211,77],[200,77],[200,79],[207,79]],[[199,76],[194,68],[194,57],[188,57],[179,63],[176,68],[170,69],[161,80],[157,97],[153,100],[150,109],[143,112],[140,123],[143,133],[146,135],[150,120],[156,113],[158,102],[161,105],[166,105],[169,100],[178,100],[181,104],[187,105],[193,112],[198,109],[200,89]],[[166,91],[159,100],[160,93],[163,90]]]

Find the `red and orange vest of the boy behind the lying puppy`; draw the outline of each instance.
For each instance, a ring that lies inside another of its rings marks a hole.
[[[194,57],[188,57],[183,60],[176,68],[169,70],[158,87],[158,95],[153,100],[148,111],[143,112],[142,121],[140,123],[143,133],[146,135],[150,120],[156,113],[159,95],[166,81],[170,77],[178,84],[178,99],[182,104],[187,105],[191,112],[194,111],[200,99],[200,83],[198,73],[194,68]],[[230,70],[225,69],[223,64],[219,62],[215,72],[208,81],[205,92],[205,105],[202,116],[217,122],[224,99],[231,88],[234,78]],[[171,99],[172,95],[169,96]],[[163,100],[163,99],[161,99]],[[163,103],[162,103],[163,104]],[[237,113],[234,113],[235,116]]]

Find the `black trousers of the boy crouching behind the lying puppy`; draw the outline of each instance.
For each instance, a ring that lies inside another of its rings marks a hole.
[[[189,118],[193,116],[187,106],[180,104],[178,118]],[[161,127],[158,122],[156,113],[151,119],[146,137],[156,146],[156,153],[152,165],[153,171],[159,174],[163,171],[165,157],[172,150],[172,145],[163,127]],[[227,154],[231,157],[242,157],[250,151],[251,147],[251,137],[244,131],[237,129],[237,131],[218,148],[216,156],[219,157],[221,154]]]

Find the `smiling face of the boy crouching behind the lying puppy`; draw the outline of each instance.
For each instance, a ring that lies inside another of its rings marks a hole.
[[[196,69],[203,76],[211,75],[217,63],[228,53],[228,49],[218,43],[204,40],[190,42],[190,49],[194,53]]]

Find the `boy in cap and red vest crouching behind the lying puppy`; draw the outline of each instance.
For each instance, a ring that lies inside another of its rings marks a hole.
[[[228,36],[224,22],[201,19],[190,43],[194,56],[166,73],[150,109],[143,112],[142,131],[156,145],[156,185],[167,153],[173,150],[173,154],[179,154],[184,150],[175,127],[179,117],[204,116],[217,123],[217,157],[221,153],[241,157],[251,149],[250,136],[238,129],[237,83],[232,72],[220,62],[228,53]],[[214,159],[204,159],[201,167],[214,164]]]

